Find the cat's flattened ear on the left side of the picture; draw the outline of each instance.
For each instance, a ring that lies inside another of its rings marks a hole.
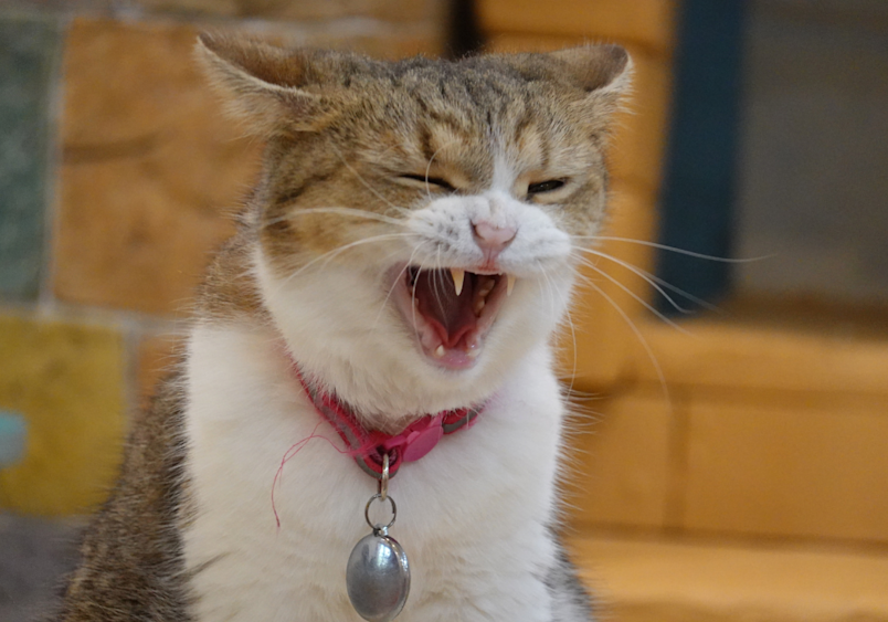
[[[313,75],[308,52],[204,33],[194,53],[228,112],[256,134],[311,131],[329,117],[325,97],[306,89]]]

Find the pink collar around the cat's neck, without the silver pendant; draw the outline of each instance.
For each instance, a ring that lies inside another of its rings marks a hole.
[[[385,434],[377,430],[367,430],[361,425],[351,407],[339,400],[336,393],[306,382],[295,361],[293,371],[315,404],[315,409],[346,442],[349,455],[355,457],[358,466],[377,479],[382,478],[383,454],[389,454],[389,477],[394,477],[401,463],[420,460],[434,449],[444,434],[468,430],[484,410],[482,404],[426,414],[408,425],[400,434]]]

